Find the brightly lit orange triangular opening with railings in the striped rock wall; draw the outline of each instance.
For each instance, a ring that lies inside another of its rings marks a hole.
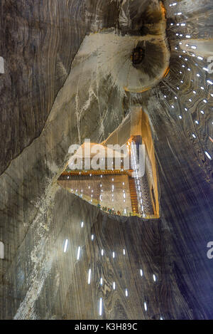
[[[151,127],[141,108],[106,141],[86,140],[70,152],[58,179],[62,188],[107,214],[159,218]]]

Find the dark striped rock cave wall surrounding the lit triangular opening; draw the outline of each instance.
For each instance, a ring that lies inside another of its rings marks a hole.
[[[1,319],[97,319],[101,297],[102,319],[213,318],[213,4],[171,3],[164,31],[158,1],[1,1]],[[146,71],[126,61],[141,22],[155,36]],[[137,71],[146,83],[167,63],[136,93]],[[71,144],[107,140],[135,106],[153,132],[160,219],[109,216],[57,183]]]

